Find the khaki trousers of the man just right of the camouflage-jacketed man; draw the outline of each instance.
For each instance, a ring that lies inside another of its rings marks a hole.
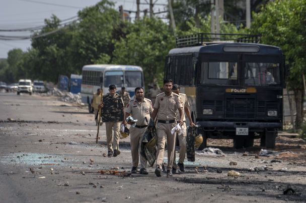
[[[138,167],[139,164],[139,151],[140,145],[142,142],[142,137],[145,132],[146,128],[136,128],[130,127],[130,139],[131,139],[131,153],[132,153],[132,164],[133,167]],[[140,167],[146,167],[146,159],[140,155]]]

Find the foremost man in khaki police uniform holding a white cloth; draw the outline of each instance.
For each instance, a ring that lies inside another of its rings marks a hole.
[[[152,118],[157,117],[157,164],[155,174],[160,177],[162,172],[162,164],[165,152],[165,142],[167,138],[168,146],[168,165],[167,177],[172,176],[172,163],[175,149],[176,135],[171,134],[171,129],[176,126],[176,121],[179,120],[180,125],[183,125],[183,106],[179,100],[179,95],[172,92],[172,80],[164,80],[164,91],[157,95],[154,104]],[[180,118],[176,117],[176,111],[179,111]]]

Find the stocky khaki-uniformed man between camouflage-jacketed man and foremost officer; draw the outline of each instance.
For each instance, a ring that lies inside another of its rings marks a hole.
[[[135,99],[131,99],[125,109],[125,118],[132,116],[137,119],[135,127],[130,127],[130,143],[132,153],[132,173],[137,172],[139,163],[139,147],[141,145],[143,134],[148,126],[150,114],[152,114],[153,106],[149,99],[143,97],[144,92],[142,87],[135,88]],[[124,119],[125,120],[125,119]],[[140,174],[148,174],[146,171],[146,160],[140,156]]]

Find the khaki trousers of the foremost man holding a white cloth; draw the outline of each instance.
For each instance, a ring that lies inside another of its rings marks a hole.
[[[165,152],[165,142],[167,139],[168,147],[168,165],[167,170],[172,170],[174,149],[175,149],[175,138],[176,134],[171,134],[171,129],[174,128],[176,123],[158,123],[157,124],[157,152],[156,158],[157,163],[156,167],[162,168]]]

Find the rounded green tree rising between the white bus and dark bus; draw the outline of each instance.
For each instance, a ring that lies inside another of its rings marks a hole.
[[[175,39],[169,26],[155,18],[143,18],[128,24],[129,34],[115,43],[115,64],[141,66],[146,85],[162,84],[165,58],[175,47]]]

